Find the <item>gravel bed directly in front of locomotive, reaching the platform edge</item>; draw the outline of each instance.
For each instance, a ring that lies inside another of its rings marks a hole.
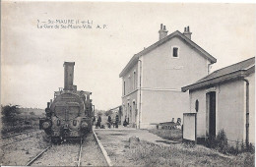
[[[79,150],[80,141],[52,145],[32,166],[76,166]],[[93,133],[84,139],[80,166],[107,166]]]

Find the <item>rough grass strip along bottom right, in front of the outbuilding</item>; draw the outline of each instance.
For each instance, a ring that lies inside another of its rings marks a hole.
[[[202,145],[161,146],[147,141],[130,145],[126,153],[134,164],[143,166],[254,166],[255,155],[246,152],[223,156]]]

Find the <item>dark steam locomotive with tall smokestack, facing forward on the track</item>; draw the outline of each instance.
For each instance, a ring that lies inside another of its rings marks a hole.
[[[95,116],[92,92],[77,90],[73,84],[75,62],[64,62],[63,66],[64,88],[55,91],[53,102],[47,102],[46,117],[39,120],[39,129],[53,143],[84,137],[92,131]]]

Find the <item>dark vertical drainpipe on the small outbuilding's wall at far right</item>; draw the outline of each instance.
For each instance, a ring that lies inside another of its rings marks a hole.
[[[242,79],[246,83],[246,121],[245,121],[245,131],[246,131],[246,147],[249,146],[249,81],[246,79]]]

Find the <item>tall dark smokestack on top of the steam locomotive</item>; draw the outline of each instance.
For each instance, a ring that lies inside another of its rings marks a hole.
[[[73,90],[75,62],[64,62],[64,90]]]

